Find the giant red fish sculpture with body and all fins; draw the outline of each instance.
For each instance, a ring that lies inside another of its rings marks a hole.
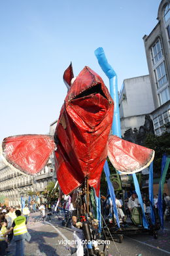
[[[56,148],[57,178],[64,194],[73,192],[85,179],[98,194],[107,155],[114,167],[126,174],[150,165],[154,150],[114,135],[109,137],[114,102],[99,75],[86,66],[73,81],[70,65],[63,79],[68,93],[54,139],[48,135],[7,137],[3,140],[3,156],[10,165],[34,175],[43,169]]]

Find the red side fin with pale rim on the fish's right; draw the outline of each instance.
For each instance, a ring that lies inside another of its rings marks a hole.
[[[130,174],[148,167],[154,160],[154,150],[111,135],[108,156],[117,171]]]

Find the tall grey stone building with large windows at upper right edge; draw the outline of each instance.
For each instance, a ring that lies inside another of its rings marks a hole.
[[[150,115],[156,135],[169,125],[170,117],[170,1],[162,0],[158,24],[144,35],[144,47],[152,87],[154,110]]]

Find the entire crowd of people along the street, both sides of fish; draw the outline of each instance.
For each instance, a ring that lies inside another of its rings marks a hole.
[[[121,195],[116,195],[116,207],[118,209],[118,215],[122,222],[126,222],[126,218],[131,216],[134,207],[140,207],[139,200],[135,191],[131,194],[126,194],[124,202]],[[143,207],[144,212],[150,213],[150,202],[148,200],[148,195],[143,194]],[[72,198],[73,199],[73,198]],[[101,205],[103,215],[115,217],[112,207],[112,200],[110,196],[101,196]],[[164,218],[170,215],[170,197],[166,193],[163,194],[163,215]],[[158,209],[158,195],[154,196],[154,208]],[[7,255],[8,245],[12,240],[16,243],[16,253],[15,256],[24,256],[24,240],[29,241],[30,235],[27,232],[26,224],[29,221],[29,214],[31,212],[41,211],[42,220],[45,220],[46,212],[48,215],[52,213],[59,213],[61,209],[71,211],[74,213],[76,211],[75,203],[72,202],[70,196],[65,196],[59,204],[55,203],[41,203],[38,204],[31,203],[29,206],[25,205],[21,209],[20,205],[16,207],[6,207],[0,204],[0,256]],[[76,216],[76,214],[73,214]],[[72,218],[73,219],[73,218]],[[74,219],[72,220],[74,222]],[[73,223],[74,224],[74,223]]]

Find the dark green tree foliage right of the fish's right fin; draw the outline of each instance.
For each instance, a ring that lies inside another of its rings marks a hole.
[[[161,159],[163,154],[170,156],[170,133],[163,133],[161,136],[148,134],[143,146],[155,150],[154,173],[161,173]],[[170,167],[167,171],[167,178],[170,177]]]

